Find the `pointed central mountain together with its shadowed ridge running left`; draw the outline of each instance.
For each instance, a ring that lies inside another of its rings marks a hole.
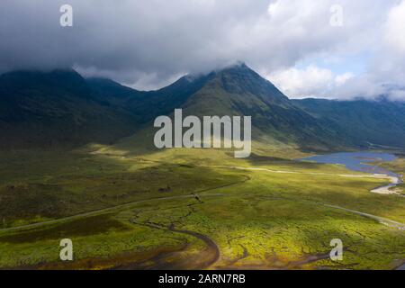
[[[333,130],[325,129],[243,63],[205,76],[184,76],[151,92],[130,92],[105,79],[90,79],[89,83],[98,99],[119,103],[134,113],[139,123],[149,122],[148,127],[158,115],[170,115],[175,108],[182,108],[184,116],[252,116],[253,139],[263,142],[300,143],[308,149],[328,149],[332,141],[335,147],[343,145]]]

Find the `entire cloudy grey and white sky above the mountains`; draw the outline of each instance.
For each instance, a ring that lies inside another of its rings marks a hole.
[[[0,0],[0,73],[75,67],[153,89],[238,60],[292,98],[405,100],[405,0]]]

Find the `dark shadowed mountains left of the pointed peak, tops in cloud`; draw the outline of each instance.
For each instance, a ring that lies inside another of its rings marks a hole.
[[[71,69],[6,73],[0,76],[0,148],[112,143],[172,112],[209,77],[184,76],[141,92],[110,79],[85,79]]]

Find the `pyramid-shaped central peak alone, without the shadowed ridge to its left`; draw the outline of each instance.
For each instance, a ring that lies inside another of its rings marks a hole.
[[[252,116],[253,139],[299,143],[325,149],[335,139],[316,118],[298,108],[275,85],[245,64],[211,74],[202,88],[182,105],[184,114]],[[339,139],[335,139],[335,144]]]

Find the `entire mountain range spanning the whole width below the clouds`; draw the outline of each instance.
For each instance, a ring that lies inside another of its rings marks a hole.
[[[252,116],[253,139],[307,150],[405,147],[405,105],[290,100],[245,64],[184,76],[157,91],[137,91],[74,70],[0,76],[0,148],[71,148],[112,143],[150,129],[159,115]],[[149,127],[149,128],[148,128]],[[149,130],[150,132],[150,130]],[[148,134],[150,134],[148,132]],[[142,135],[142,136],[140,136]]]

